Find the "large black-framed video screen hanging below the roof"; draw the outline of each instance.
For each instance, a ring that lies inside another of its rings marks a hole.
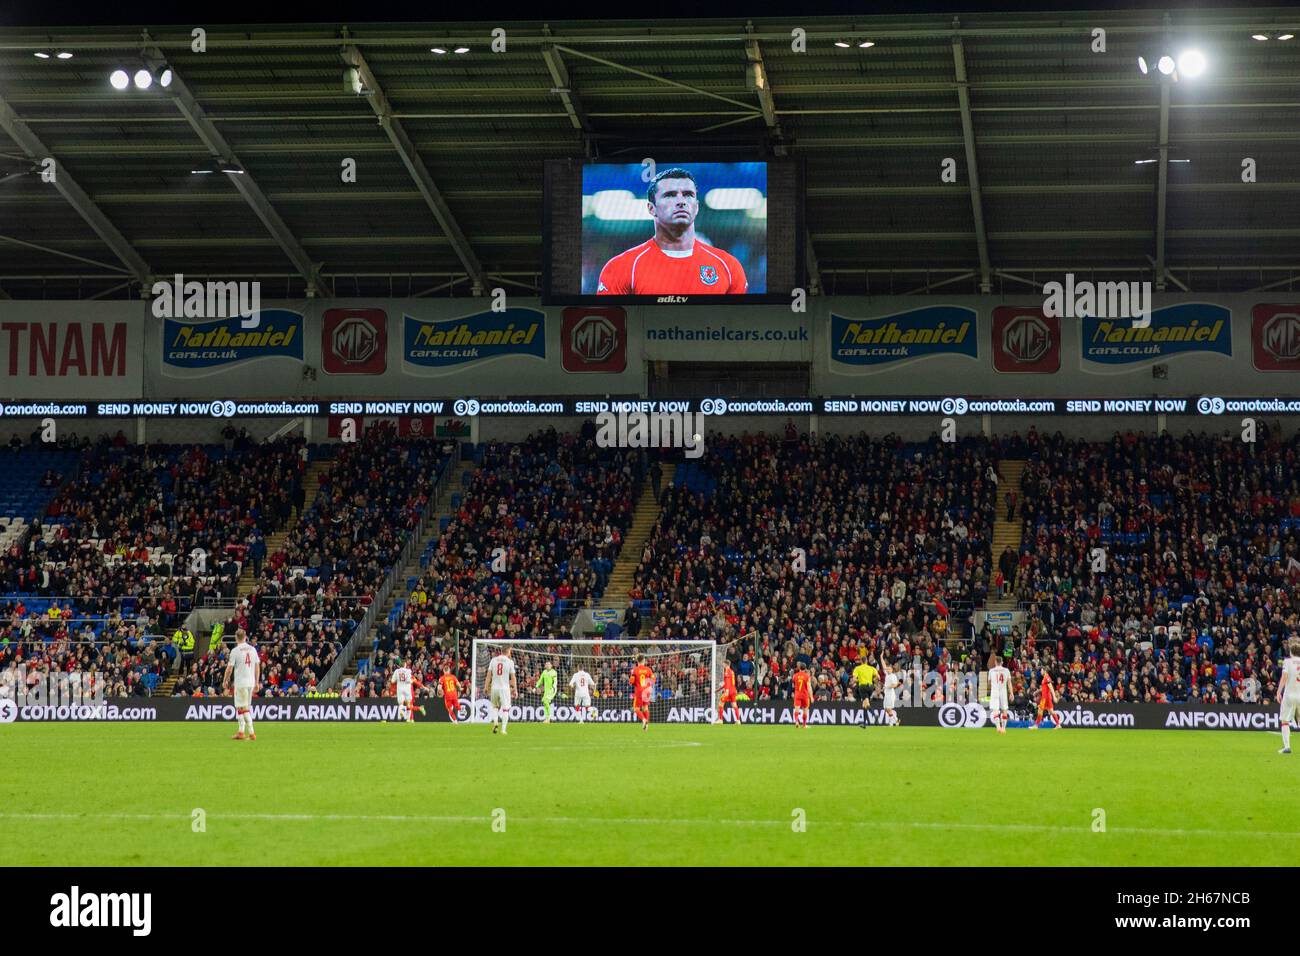
[[[793,161],[547,164],[550,302],[789,300],[801,285]]]

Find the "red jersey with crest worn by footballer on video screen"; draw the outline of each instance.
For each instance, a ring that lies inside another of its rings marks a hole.
[[[601,269],[597,295],[740,295],[745,269],[731,252],[696,241],[688,256],[672,256],[654,238],[620,252]]]

